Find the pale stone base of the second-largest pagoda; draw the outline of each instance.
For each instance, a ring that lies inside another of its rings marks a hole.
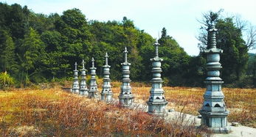
[[[164,102],[150,102],[148,101],[148,113],[155,114],[157,116],[165,115],[165,105],[167,105],[167,101]]]

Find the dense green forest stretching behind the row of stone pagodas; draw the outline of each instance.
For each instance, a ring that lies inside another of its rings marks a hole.
[[[256,86],[256,57],[248,53],[241,29],[233,18],[218,18],[215,24],[218,48],[224,50],[221,78],[225,86]],[[189,56],[175,38],[162,29],[158,42],[159,56],[164,59],[162,77],[165,85],[204,85],[204,49],[207,48],[204,27],[198,37],[202,42],[198,56]],[[63,11],[62,15],[44,15],[32,12],[27,6],[0,3],[0,88],[10,84],[20,87],[71,80],[75,62],[80,64],[84,59],[89,69],[91,57],[101,77],[106,51],[111,79],[119,81],[125,46],[129,51],[128,62],[131,62],[131,80],[149,81],[155,41],[126,17],[122,21],[88,21],[78,9]]]

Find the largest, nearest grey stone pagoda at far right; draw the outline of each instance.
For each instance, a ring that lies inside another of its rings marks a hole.
[[[224,103],[224,94],[221,91],[221,84],[224,83],[220,76],[221,63],[220,53],[222,50],[216,48],[215,33],[217,29],[211,24],[208,28],[207,53],[207,78],[204,83],[207,90],[204,93],[204,103],[199,111],[202,116],[201,125],[205,125],[212,130],[212,133],[229,133],[230,127],[227,125],[227,115]]]

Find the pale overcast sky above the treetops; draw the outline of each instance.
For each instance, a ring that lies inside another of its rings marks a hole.
[[[144,29],[154,38],[163,27],[189,54],[198,55],[198,29],[202,13],[224,9],[224,15],[241,15],[256,26],[255,0],[0,0],[18,3],[36,12],[61,14],[64,10],[80,9],[88,20],[122,21],[126,16],[136,28]],[[256,53],[256,51],[250,51]]]

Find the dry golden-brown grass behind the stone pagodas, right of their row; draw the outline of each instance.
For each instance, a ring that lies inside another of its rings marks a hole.
[[[136,86],[136,85],[134,85]],[[133,87],[136,95],[135,101],[145,103],[148,101],[151,87]],[[169,102],[167,108],[174,108],[187,114],[198,115],[203,103],[205,88],[191,87],[164,87],[165,98]],[[230,111],[229,122],[240,122],[242,125],[256,127],[256,89],[222,89],[225,103]],[[120,88],[113,88],[114,96]]]

